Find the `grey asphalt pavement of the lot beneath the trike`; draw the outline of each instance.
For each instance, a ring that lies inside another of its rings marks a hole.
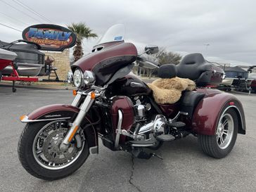
[[[90,155],[70,177],[44,181],[20,165],[17,146],[25,124],[18,118],[44,105],[71,103],[72,91],[20,87],[13,93],[0,86],[0,191],[255,191],[256,95],[236,96],[245,109],[247,134],[238,134],[226,158],[205,155],[194,136],[165,143],[157,151],[163,160],[132,159],[100,145],[99,154]]]

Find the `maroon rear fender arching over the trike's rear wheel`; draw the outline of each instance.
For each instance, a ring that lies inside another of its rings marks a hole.
[[[226,108],[233,108],[238,116],[238,133],[245,134],[245,115],[243,106],[232,94],[221,91],[202,91],[203,98],[197,105],[192,118],[191,128],[196,134],[215,135],[217,122]]]

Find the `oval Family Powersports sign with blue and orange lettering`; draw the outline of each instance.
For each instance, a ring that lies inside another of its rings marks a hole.
[[[63,51],[75,45],[76,36],[65,27],[39,24],[27,27],[23,31],[23,39],[32,41],[45,51]]]

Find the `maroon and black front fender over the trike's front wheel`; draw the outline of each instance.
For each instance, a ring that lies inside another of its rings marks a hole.
[[[75,117],[79,113],[79,108],[72,105],[46,105],[44,107],[34,110],[28,115],[23,115],[20,117],[21,122],[33,123],[33,122],[48,122],[53,120],[75,120]],[[92,123],[92,118],[87,115],[84,122],[82,122],[81,127],[85,127],[87,124]],[[88,141],[88,146],[90,153],[98,153],[98,134],[94,125],[91,125],[84,129],[86,139]]]

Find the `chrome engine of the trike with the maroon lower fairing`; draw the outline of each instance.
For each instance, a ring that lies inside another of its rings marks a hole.
[[[132,141],[146,141],[165,133],[165,116],[156,113],[146,96],[135,96],[132,99],[127,96],[115,96],[112,104],[113,127],[117,127],[117,111],[122,108],[120,134],[128,136]]]

